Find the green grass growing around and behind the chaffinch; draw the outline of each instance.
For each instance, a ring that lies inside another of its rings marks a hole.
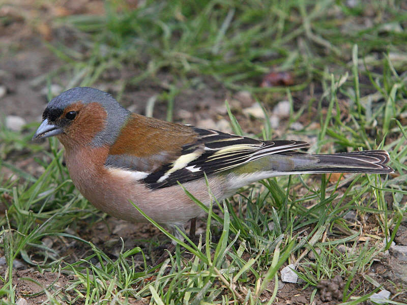
[[[159,89],[157,103],[167,105],[165,117],[171,120],[184,90],[199,90],[203,77],[210,77],[232,92],[248,90],[266,108],[276,100],[290,101],[291,119],[279,132],[315,139],[311,152],[387,149],[396,174],[260,181],[224,202],[202,206],[209,215],[198,244],[187,238],[180,242],[183,248],[152,267],[153,246],[126,249],[122,241],[113,256],[76,233],[100,221],[101,214],[74,188],[55,139],[39,154],[30,142],[34,125],[23,136],[2,127],[0,166],[18,179],[2,179],[0,186],[7,206],[0,219],[7,263],[1,302],[16,301],[12,263],[18,258],[40,273],[56,275],[47,286],[38,283],[39,292],[24,295],[44,293],[46,303],[271,304],[278,302],[279,270],[288,263],[296,265],[303,281],[297,287],[308,291],[309,303],[318,297],[317,283],[335,275],[345,281],[339,300],[345,304],[363,303],[383,287],[392,287],[392,302],[402,303],[402,283],[377,282],[368,275],[374,261],[386,255],[407,212],[407,34],[397,31],[397,25],[407,26],[407,11],[400,5],[390,0],[355,7],[306,0],[175,1],[146,2],[131,10],[125,2],[106,2],[105,15],[53,20],[74,26],[75,47],[87,51],[49,44],[66,65],[42,79],[63,82],[60,75],[68,76],[63,83],[68,88],[103,84],[103,73],[112,69],[131,71],[131,77],[113,81],[120,98],[143,81],[161,84],[158,74],[165,73],[172,81]],[[290,71],[296,84],[259,87],[271,69]],[[304,96],[306,101],[298,103]],[[244,133],[240,111],[227,109],[234,132]],[[304,128],[294,131],[290,126],[297,119]],[[318,128],[309,128],[311,123]],[[275,133],[268,117],[258,124],[264,128],[257,136]],[[36,154],[44,173],[34,177],[13,165],[10,155],[16,151]],[[355,221],[344,220],[350,211],[356,212]],[[47,237],[54,238],[53,246]],[[87,249],[86,254],[65,255],[68,243]],[[347,247],[344,253],[340,245]],[[58,279],[65,278],[69,282],[61,287]]]

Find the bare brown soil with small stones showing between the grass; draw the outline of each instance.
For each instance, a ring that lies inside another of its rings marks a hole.
[[[86,2],[88,7],[85,6],[84,12],[89,10],[95,12],[94,7],[96,7],[96,4],[96,1]],[[45,76],[47,73],[56,71],[56,69],[66,64],[57,58],[46,44],[75,38],[74,32],[69,28],[54,27],[51,22],[52,14],[76,13],[78,10],[80,9],[73,7],[73,5],[69,7],[68,4],[66,4],[66,7],[59,7],[59,10],[46,6],[33,10],[22,0],[15,2],[13,6],[0,7],[0,15],[9,16],[10,20],[7,24],[0,24],[0,48],[2,49],[0,55],[0,85],[6,88],[5,95],[0,97],[0,112],[3,116],[17,115],[25,119],[27,123],[40,122],[41,114],[47,103]],[[102,13],[102,11],[98,10],[96,12]],[[114,95],[116,88],[109,82],[111,77],[131,77],[138,73],[139,71],[136,69],[111,71],[111,74],[105,75],[95,86],[109,90]],[[61,73],[59,79],[61,83],[64,83],[68,77],[69,75]],[[171,76],[165,73],[158,75],[158,79],[163,83],[169,77]],[[229,127],[227,125],[223,123],[223,125],[219,125],[220,121],[223,122],[225,118],[227,120],[224,100],[236,101],[239,104],[238,106],[243,108],[248,108],[254,103],[252,99],[247,98],[247,95],[230,92],[211,78],[202,76],[200,79],[202,86],[199,90],[184,90],[176,98],[175,121],[228,131]],[[136,87],[127,87],[121,103],[132,111],[143,113],[147,101],[162,90],[163,87],[157,86],[157,81],[144,81]],[[155,107],[154,116],[165,118],[166,112],[163,109],[165,109],[165,105],[158,104]],[[260,130],[258,124],[255,124],[248,116],[238,115],[239,121],[245,130],[249,132]],[[32,157],[30,158],[31,162],[26,161],[26,156],[16,157],[10,155],[8,158],[22,169],[31,170],[34,171],[33,174],[38,174],[36,172],[38,168],[35,167],[35,164],[33,165]],[[407,226],[407,224],[404,225]],[[83,227],[77,228],[73,234],[91,240],[97,247],[110,253],[112,257],[117,257],[119,254],[122,245],[120,237],[123,238],[127,249],[140,245],[143,247],[140,241],[142,239],[157,239],[158,241],[158,239],[164,238],[155,227],[149,224],[131,224],[111,217],[107,217],[106,222],[96,222],[92,227],[83,224]],[[89,249],[83,249],[76,241],[69,242],[68,247],[58,238],[49,237],[47,242],[51,242],[62,256],[72,257],[73,261],[89,254]],[[0,254],[0,256],[3,256],[3,253]],[[141,265],[141,258],[135,257],[136,262],[137,259],[140,260],[138,262]],[[149,259],[154,260],[156,258]],[[403,272],[404,270],[404,274],[407,274],[405,263],[392,256],[374,263],[372,269],[372,274],[380,283],[387,283],[387,279],[393,279],[392,275],[394,273]],[[2,277],[4,277],[4,272],[5,267],[0,266]],[[73,277],[59,272],[40,273],[35,267],[22,263],[20,269],[16,270],[14,274],[13,285],[16,285],[16,295],[17,297],[24,297],[28,304],[37,304],[44,301],[47,296],[44,293],[37,295],[36,293],[42,288],[29,279],[36,281],[43,287],[52,284],[54,288],[65,289],[69,285],[69,281],[73,280]],[[407,279],[405,281],[407,282]],[[407,285],[407,283],[405,284]],[[308,304],[312,289],[310,287],[303,289],[303,286],[301,283],[286,283],[277,294],[278,300],[276,304]],[[390,290],[392,295],[396,293],[390,284],[385,284],[385,288]],[[315,301],[316,304],[324,303],[319,298],[318,293],[315,296]],[[144,302],[134,300],[133,303],[141,304]],[[334,303],[325,302],[325,304]]]

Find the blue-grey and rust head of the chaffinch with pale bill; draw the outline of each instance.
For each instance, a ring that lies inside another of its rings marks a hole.
[[[111,145],[129,113],[106,92],[90,87],[72,88],[48,103],[33,140],[58,136],[66,147]]]

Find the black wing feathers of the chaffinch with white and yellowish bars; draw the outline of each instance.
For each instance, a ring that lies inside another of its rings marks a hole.
[[[210,176],[267,155],[309,146],[301,141],[260,141],[211,129],[193,129],[199,135],[198,140],[184,145],[181,156],[175,162],[144,178],[151,188],[184,183],[201,178],[204,173]]]

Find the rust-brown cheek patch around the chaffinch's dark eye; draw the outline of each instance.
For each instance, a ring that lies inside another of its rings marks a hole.
[[[67,149],[89,144],[105,128],[107,113],[99,103],[77,102],[64,109],[63,117],[69,111],[76,111],[77,117],[58,136]]]

